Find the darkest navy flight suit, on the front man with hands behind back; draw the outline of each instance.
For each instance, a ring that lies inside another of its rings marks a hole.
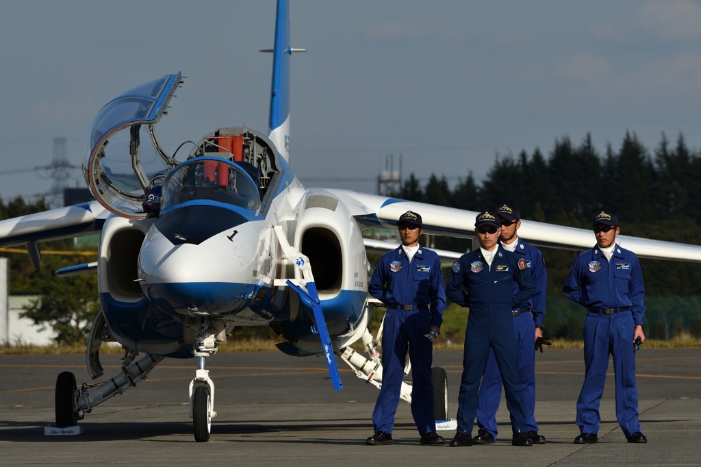
[[[461,287],[464,287],[465,293]],[[519,290],[516,293],[515,288]],[[494,349],[503,378],[512,431],[528,431],[519,374],[519,344],[511,311],[526,306],[534,292],[536,287],[524,259],[519,259],[501,246],[497,246],[494,252],[491,267],[479,249],[465,253],[453,264],[446,295],[456,304],[470,308],[458,395],[459,433],[472,433],[479,381],[484,374],[490,348]]]

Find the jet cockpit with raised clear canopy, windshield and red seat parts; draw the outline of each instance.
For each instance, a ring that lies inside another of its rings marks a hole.
[[[219,128],[199,142],[184,142],[172,156],[158,142],[156,123],[182,82],[179,73],[163,76],[100,110],[84,149],[83,175],[93,196],[129,219],[207,201],[263,212],[283,175],[268,137],[245,127]],[[186,144],[190,152],[181,153],[181,163],[178,152]]]

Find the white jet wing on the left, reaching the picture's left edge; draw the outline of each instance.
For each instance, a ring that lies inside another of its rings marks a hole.
[[[0,221],[0,248],[26,245],[35,269],[41,266],[39,242],[95,234],[102,230],[109,212],[93,201],[36,212]]]

